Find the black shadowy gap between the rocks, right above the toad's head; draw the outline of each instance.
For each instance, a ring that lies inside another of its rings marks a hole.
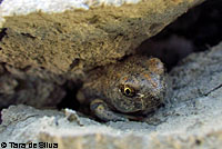
[[[178,18],[138,49],[160,58],[170,71],[191,52],[204,51],[222,40],[222,1],[208,0]]]

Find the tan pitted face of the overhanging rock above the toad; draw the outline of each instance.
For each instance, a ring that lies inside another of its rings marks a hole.
[[[95,2],[89,10],[3,16],[0,60],[17,68],[44,67],[56,73],[104,66],[132,53],[202,1],[142,0],[121,7]],[[0,7],[1,11],[4,8]]]

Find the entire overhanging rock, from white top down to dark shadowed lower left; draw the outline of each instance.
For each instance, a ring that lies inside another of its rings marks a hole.
[[[65,95],[64,82],[79,83],[85,71],[133,53],[142,41],[203,0],[113,1],[115,4],[98,0],[85,2],[88,9],[71,9],[65,3],[69,0],[63,4],[26,1],[0,3],[4,20],[0,19],[0,62],[4,63],[0,67],[10,66],[0,73],[0,108],[11,103],[57,106]]]

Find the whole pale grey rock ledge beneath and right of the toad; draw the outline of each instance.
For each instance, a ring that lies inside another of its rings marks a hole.
[[[185,58],[171,73],[171,103],[151,117],[162,122],[99,123],[68,110],[11,106],[2,111],[0,142],[49,142],[60,149],[220,149],[222,42]],[[184,93],[185,92],[185,96]]]

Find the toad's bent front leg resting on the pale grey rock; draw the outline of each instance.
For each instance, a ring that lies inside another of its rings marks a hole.
[[[113,112],[108,105],[101,100],[95,99],[90,103],[91,111],[103,121],[128,121],[122,115]]]

